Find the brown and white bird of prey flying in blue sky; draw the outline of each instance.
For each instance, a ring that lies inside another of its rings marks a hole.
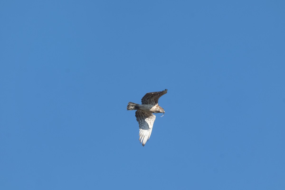
[[[127,110],[137,110],[136,118],[140,127],[139,140],[143,146],[151,135],[152,126],[155,120],[155,115],[152,113],[163,113],[163,115],[165,113],[164,109],[158,105],[158,99],[166,93],[167,89],[160,92],[149,92],[142,98],[142,104],[136,104],[133,102],[128,103]]]

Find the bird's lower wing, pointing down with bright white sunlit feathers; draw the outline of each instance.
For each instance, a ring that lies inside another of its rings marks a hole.
[[[141,143],[143,143],[144,146],[150,138],[152,126],[155,120],[155,115],[146,111],[137,110],[136,118],[139,122],[140,127],[139,140],[141,141]]]

